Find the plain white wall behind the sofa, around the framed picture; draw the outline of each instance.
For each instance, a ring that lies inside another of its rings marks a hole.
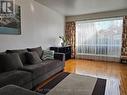
[[[64,16],[34,0],[15,1],[21,6],[22,34],[0,34],[0,51],[59,45],[59,36],[64,34]]]

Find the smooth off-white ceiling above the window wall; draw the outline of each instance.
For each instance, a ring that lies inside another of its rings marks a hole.
[[[127,0],[35,0],[65,15],[81,15],[127,8]]]

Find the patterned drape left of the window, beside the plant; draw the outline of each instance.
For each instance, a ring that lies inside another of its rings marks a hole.
[[[75,58],[76,54],[76,24],[75,22],[66,22],[65,36],[72,47],[72,58]]]

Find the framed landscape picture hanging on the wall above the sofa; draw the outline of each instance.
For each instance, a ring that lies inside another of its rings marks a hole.
[[[13,16],[0,16],[0,34],[21,35],[21,8],[15,6]]]

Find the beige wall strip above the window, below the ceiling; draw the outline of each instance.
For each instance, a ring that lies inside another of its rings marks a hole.
[[[109,17],[119,17],[127,15],[127,9],[109,11],[109,12],[100,12],[86,15],[77,15],[77,16],[67,16],[66,22],[69,21],[81,21],[89,19],[99,19],[99,18],[109,18]]]

